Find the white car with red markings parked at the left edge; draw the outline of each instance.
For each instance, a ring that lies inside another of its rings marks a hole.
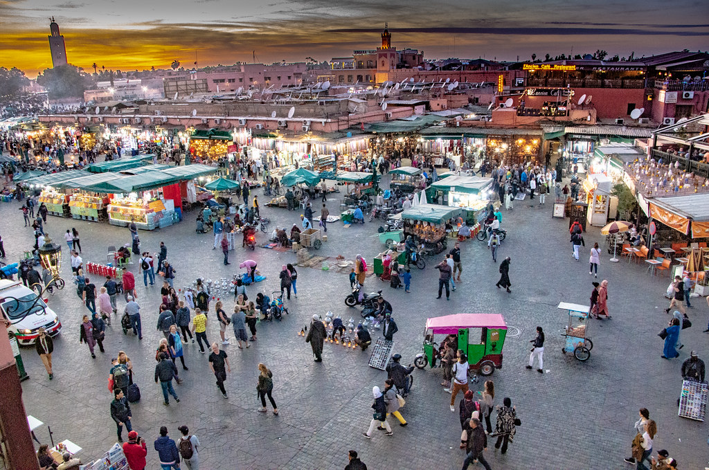
[[[33,345],[40,327],[44,327],[50,336],[58,335],[62,329],[62,323],[54,310],[41,298],[32,306],[35,300],[37,293],[25,287],[21,281],[0,280],[0,308],[4,317],[11,322],[8,330],[15,334],[20,345]],[[28,312],[30,306],[32,309]]]

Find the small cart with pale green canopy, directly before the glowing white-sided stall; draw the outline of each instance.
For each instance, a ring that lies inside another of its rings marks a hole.
[[[440,253],[448,245],[445,224],[460,216],[461,208],[438,206],[437,204],[419,204],[401,213],[403,235],[411,235],[417,245],[430,253]]]

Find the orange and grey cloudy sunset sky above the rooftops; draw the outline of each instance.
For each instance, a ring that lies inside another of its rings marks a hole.
[[[384,22],[392,45],[427,59],[529,59],[604,49],[635,57],[706,50],[706,0],[0,0],[0,66],[29,77],[51,67],[55,16],[69,63],[91,69],[330,60],[374,48]]]

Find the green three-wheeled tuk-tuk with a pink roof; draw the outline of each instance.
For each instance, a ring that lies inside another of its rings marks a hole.
[[[506,335],[507,324],[499,313],[456,313],[428,318],[423,334],[423,353],[416,356],[414,364],[419,369],[428,364],[435,367],[439,355],[436,340],[442,342],[449,338],[454,340],[457,349],[467,354],[471,371],[489,376],[495,369],[502,368]]]

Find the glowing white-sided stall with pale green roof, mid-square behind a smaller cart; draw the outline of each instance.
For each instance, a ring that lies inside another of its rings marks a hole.
[[[435,181],[426,192],[431,201],[442,206],[462,208],[466,223],[472,226],[484,218],[492,187],[492,178],[451,175]]]

